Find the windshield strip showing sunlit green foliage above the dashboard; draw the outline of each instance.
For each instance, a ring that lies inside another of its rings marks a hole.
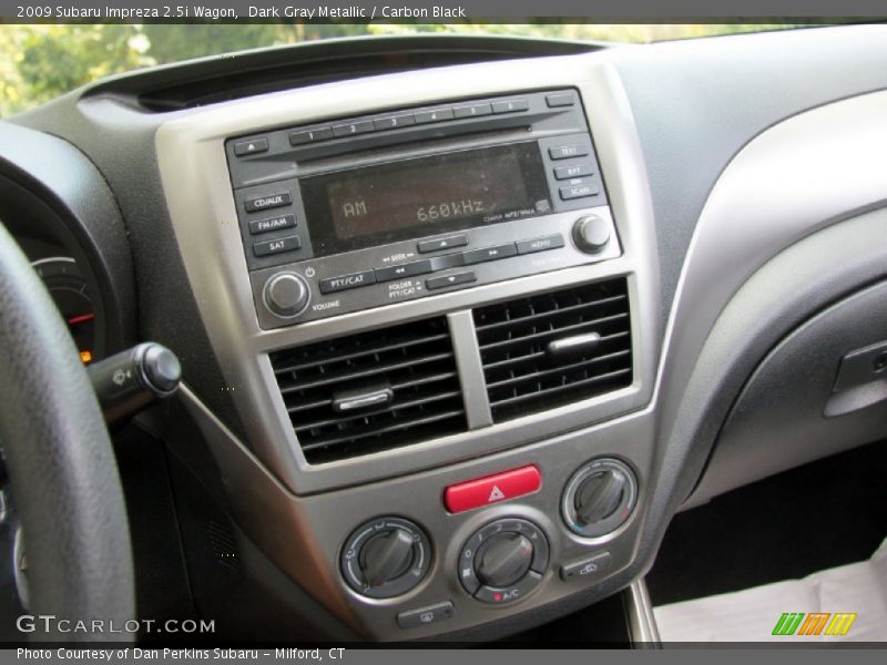
[[[650,43],[786,24],[0,24],[0,117],[155,64],[320,39],[417,32]]]

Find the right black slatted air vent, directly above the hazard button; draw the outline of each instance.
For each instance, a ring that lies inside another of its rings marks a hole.
[[[476,309],[475,326],[497,422],[631,385],[624,278]]]

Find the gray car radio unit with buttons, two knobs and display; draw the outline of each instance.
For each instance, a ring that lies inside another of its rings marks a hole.
[[[621,253],[575,90],[274,130],[225,149],[266,329]]]

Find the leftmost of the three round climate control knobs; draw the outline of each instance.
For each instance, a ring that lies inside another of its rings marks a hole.
[[[378,518],[358,526],[341,551],[341,574],[357,593],[392,598],[421,582],[431,563],[431,544],[416,524]]]

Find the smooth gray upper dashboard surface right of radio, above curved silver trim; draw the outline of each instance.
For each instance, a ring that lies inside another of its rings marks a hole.
[[[613,54],[646,161],[663,320],[696,221],[730,160],[781,120],[887,88],[886,39],[880,25],[808,28]]]

